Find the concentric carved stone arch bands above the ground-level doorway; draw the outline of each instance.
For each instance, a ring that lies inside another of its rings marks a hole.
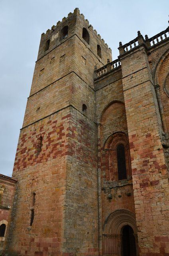
[[[121,235],[122,227],[129,225],[138,233],[135,215],[128,210],[116,210],[108,215],[103,225],[103,234]]]

